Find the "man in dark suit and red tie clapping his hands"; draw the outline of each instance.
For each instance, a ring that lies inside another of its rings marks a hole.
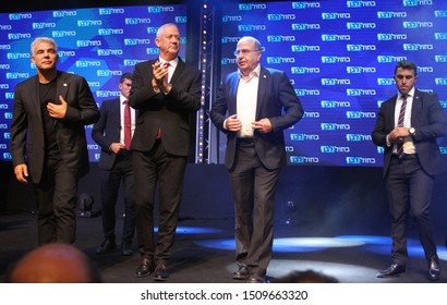
[[[168,279],[179,219],[191,117],[201,107],[200,71],[179,57],[180,33],[165,24],[155,44],[159,58],[135,65],[130,103],[140,111],[132,139],[135,174],[135,223],[142,261],[136,277]],[[169,63],[169,65],[168,65]],[[158,236],[154,236],[154,203],[158,183]]]

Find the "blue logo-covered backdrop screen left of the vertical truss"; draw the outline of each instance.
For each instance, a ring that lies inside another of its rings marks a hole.
[[[149,5],[71,9],[0,14],[0,159],[10,160],[9,127],[14,87],[36,74],[29,45],[37,36],[58,44],[58,69],[84,76],[100,107],[120,95],[118,83],[135,63],[158,57],[155,36],[165,23],[177,23],[182,35],[180,56],[186,44],[185,5]],[[90,161],[99,159],[99,147],[86,126]]]

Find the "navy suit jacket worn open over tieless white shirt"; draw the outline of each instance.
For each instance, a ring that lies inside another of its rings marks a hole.
[[[237,133],[224,129],[228,115],[237,112],[238,72],[227,75],[213,102],[210,118],[213,123],[227,134],[225,164],[231,169],[235,156]],[[282,112],[283,110],[283,112]],[[263,164],[277,169],[286,164],[285,138],[282,130],[292,126],[303,117],[303,107],[286,73],[275,69],[261,68],[257,89],[256,121],[268,118],[273,132],[262,134],[255,131],[254,145]]]

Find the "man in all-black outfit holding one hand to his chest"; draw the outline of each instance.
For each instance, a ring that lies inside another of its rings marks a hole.
[[[88,171],[84,126],[99,119],[82,76],[57,70],[52,38],[31,45],[37,75],[17,84],[11,124],[15,178],[33,183],[38,205],[38,242],[73,243],[78,179]]]

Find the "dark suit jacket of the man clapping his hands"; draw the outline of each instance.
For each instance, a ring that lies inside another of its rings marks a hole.
[[[168,95],[157,94],[152,86],[152,65],[155,62],[140,62],[133,72],[129,103],[138,110],[138,118],[131,148],[149,151],[155,144],[158,127],[161,127],[161,142],[166,151],[186,157],[191,114],[201,108],[201,73],[179,58],[170,81],[172,89]]]

